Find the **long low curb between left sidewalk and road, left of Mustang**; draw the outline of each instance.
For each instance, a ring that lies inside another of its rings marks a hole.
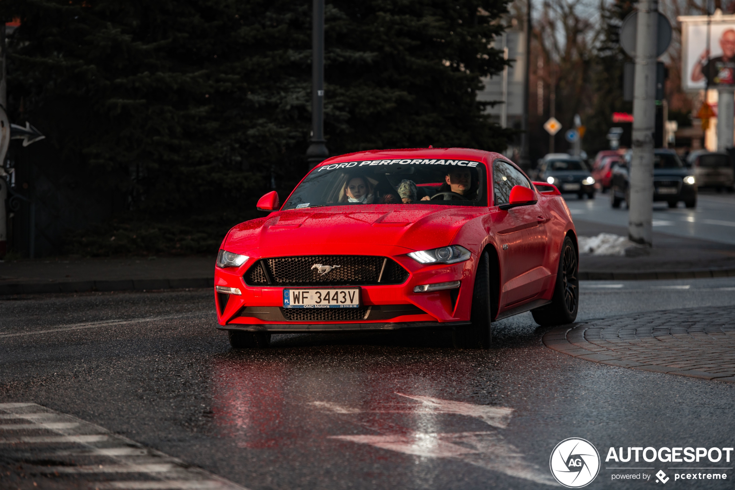
[[[214,278],[127,279],[121,281],[16,283],[0,284],[0,295],[28,295],[50,292],[146,291],[148,289],[184,289],[214,287],[214,284]]]

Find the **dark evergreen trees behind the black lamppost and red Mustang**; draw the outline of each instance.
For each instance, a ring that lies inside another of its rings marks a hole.
[[[272,181],[284,199],[306,173],[310,1],[5,0],[0,12],[21,18],[11,120],[32,119],[60,165],[95,169],[95,185],[129,203],[117,221],[77,231],[73,251],[176,251],[208,227],[214,248],[202,239],[187,251],[215,252]],[[512,131],[475,100],[480,77],[503,68],[489,47],[503,12],[506,0],[328,2],[331,154],[503,150]],[[105,245],[121,226],[160,238]],[[178,231],[146,232],[159,228]]]

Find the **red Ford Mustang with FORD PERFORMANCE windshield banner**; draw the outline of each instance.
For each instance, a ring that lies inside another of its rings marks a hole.
[[[566,203],[503,155],[467,148],[365,151],[315,167],[283,206],[232,228],[215,302],[232,347],[272,333],[453,329],[490,347],[493,320],[571,323],[578,248]]]

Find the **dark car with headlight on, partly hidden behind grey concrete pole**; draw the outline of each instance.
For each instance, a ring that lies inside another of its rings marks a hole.
[[[619,208],[623,201],[630,203],[631,156],[628,151],[612,168],[610,203],[614,208]],[[697,206],[697,180],[671,150],[653,151],[653,201],[666,201],[670,208],[675,208],[679,201],[684,201],[688,208]]]

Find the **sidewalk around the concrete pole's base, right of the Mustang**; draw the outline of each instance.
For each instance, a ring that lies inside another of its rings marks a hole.
[[[600,233],[628,236],[628,228],[574,220],[580,237]],[[579,257],[582,280],[649,280],[735,276],[735,245],[653,232],[650,255]]]

